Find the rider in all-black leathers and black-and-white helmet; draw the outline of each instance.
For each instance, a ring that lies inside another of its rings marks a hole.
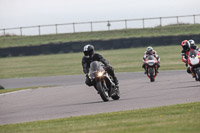
[[[114,69],[109,65],[102,55],[94,52],[94,46],[87,44],[83,48],[84,56],[82,58],[82,67],[83,72],[86,74],[85,84],[88,86],[93,86],[92,81],[90,80],[88,73],[90,68],[90,63],[93,61],[100,61],[105,65],[105,70],[113,77],[115,85],[118,85],[117,77],[115,76]]]

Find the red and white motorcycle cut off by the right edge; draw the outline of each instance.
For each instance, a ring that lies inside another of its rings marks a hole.
[[[191,50],[188,56],[188,64],[192,67],[192,73],[196,81],[200,81],[200,52]]]

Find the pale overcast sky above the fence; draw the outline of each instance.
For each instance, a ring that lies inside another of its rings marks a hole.
[[[0,29],[200,14],[200,0],[0,0]]]

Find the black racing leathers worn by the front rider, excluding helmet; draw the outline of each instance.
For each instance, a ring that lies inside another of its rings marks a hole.
[[[102,62],[105,65],[105,67],[106,67],[106,71],[113,77],[115,84],[118,84],[118,80],[117,80],[117,78],[115,76],[114,69],[109,65],[108,61],[105,60],[102,55],[100,55],[98,53],[95,53],[90,58],[85,57],[85,56],[83,56],[83,58],[82,58],[83,72],[86,74],[86,81],[85,81],[85,83],[88,86],[92,86],[93,85],[92,82],[91,82],[91,80],[89,79],[89,77],[87,75],[89,73],[90,63],[93,62],[93,61],[100,61],[100,62]]]

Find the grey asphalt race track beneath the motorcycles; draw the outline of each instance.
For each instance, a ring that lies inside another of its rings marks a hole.
[[[103,102],[83,75],[3,79],[5,88],[59,85],[0,94],[0,125],[200,101],[200,82],[185,71],[118,73],[120,100]]]

